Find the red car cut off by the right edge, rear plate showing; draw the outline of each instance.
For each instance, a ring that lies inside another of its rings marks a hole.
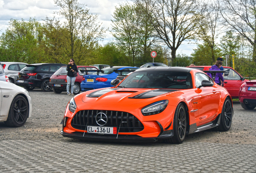
[[[244,109],[256,107],[256,80],[246,81],[239,90],[239,102]]]

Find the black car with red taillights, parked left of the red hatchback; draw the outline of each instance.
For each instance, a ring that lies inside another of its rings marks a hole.
[[[28,64],[19,72],[16,84],[27,90],[41,88],[42,91],[52,91],[52,85],[49,84],[50,77],[61,66],[65,65],[54,63]]]

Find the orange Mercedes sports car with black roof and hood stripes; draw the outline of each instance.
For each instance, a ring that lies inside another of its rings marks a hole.
[[[182,143],[186,135],[206,129],[228,131],[232,117],[231,96],[201,70],[151,67],[132,72],[116,87],[73,97],[61,133],[87,140]]]

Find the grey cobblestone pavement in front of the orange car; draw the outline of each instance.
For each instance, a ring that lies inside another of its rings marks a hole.
[[[10,140],[0,148],[2,173],[256,172],[255,145]]]

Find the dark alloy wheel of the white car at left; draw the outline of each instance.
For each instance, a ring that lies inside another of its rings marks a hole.
[[[7,121],[4,123],[9,127],[21,127],[26,123],[28,116],[29,104],[23,96],[18,95],[13,99]]]

